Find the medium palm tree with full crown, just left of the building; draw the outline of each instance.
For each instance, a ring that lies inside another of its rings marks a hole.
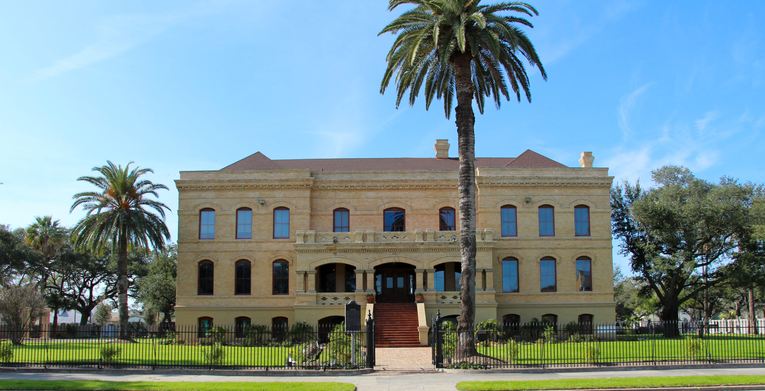
[[[159,197],[158,190],[168,190],[164,184],[139,179],[143,174],[153,173],[151,168],[130,169],[132,161],[122,168],[106,161],[103,167],[94,167],[98,177],[80,177],[99,188],[74,194],[70,213],[82,205],[86,216],[77,222],[72,230],[73,242],[77,248],[102,250],[106,246],[116,247],[117,288],[119,292],[119,323],[122,333],[128,326],[128,246],[164,249],[170,231],[164,223],[164,210],[170,208],[151,200],[149,195]],[[153,209],[156,213],[148,209]],[[125,339],[125,334],[120,337]]]

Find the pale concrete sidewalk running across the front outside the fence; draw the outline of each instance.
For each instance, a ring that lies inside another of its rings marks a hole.
[[[359,391],[441,391],[456,390],[455,384],[470,380],[546,380],[599,377],[765,375],[765,368],[724,370],[621,370],[579,373],[442,373],[436,371],[387,371],[360,376],[204,376],[204,375],[104,375],[68,373],[0,373],[0,379],[192,381],[192,382],[343,382],[356,384]]]

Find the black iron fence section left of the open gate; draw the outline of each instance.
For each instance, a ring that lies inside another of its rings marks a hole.
[[[371,318],[353,333],[307,323],[0,330],[0,367],[352,370],[374,367],[374,357]]]

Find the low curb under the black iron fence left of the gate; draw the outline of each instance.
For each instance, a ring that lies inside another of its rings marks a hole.
[[[356,376],[362,370],[99,370],[96,368],[0,368],[0,373],[98,373],[104,375],[213,375],[213,376]]]

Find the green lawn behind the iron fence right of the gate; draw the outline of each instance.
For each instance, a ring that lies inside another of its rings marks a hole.
[[[647,338],[646,340],[610,340],[601,342],[558,342],[555,344],[519,344],[514,363],[585,363],[584,350],[588,345],[600,350],[598,362],[628,362],[652,360],[711,360],[762,359],[765,358],[765,337],[750,335],[708,335],[702,339],[702,349],[688,350],[685,337]],[[506,346],[479,347],[478,351],[500,360],[509,360]],[[448,357],[448,354],[446,355]]]

